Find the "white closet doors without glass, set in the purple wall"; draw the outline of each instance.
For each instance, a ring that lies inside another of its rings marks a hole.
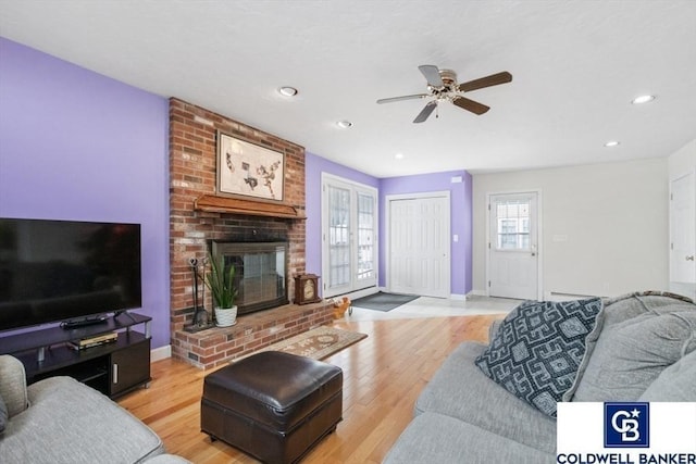
[[[449,195],[390,197],[389,291],[448,298],[450,294]]]

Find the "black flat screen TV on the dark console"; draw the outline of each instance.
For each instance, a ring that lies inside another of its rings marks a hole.
[[[0,217],[0,330],[140,306],[139,224]]]

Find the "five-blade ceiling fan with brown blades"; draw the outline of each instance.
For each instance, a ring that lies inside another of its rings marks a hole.
[[[422,123],[427,120],[431,113],[437,108],[437,104],[442,101],[449,101],[462,110],[471,111],[474,114],[481,115],[490,110],[490,108],[470,100],[461,93],[482,89],[484,87],[506,84],[512,80],[512,74],[504,71],[502,73],[492,74],[486,77],[469,80],[468,83],[457,84],[457,73],[451,70],[438,70],[437,66],[432,64],[423,64],[418,66],[418,68],[423,73],[423,76],[425,76],[425,80],[427,80],[428,93],[407,95],[403,97],[391,97],[377,100],[377,103],[391,103],[393,101],[433,97],[433,100],[428,102],[423,110],[421,110],[418,116],[415,116],[415,120],[413,120],[414,123]]]

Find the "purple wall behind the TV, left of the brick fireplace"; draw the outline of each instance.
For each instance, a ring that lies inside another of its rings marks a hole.
[[[170,342],[169,102],[0,38],[0,216],[140,223],[142,309]]]

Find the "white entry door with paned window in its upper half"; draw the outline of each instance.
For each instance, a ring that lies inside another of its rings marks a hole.
[[[538,300],[537,205],[537,192],[489,197],[490,297]]]

